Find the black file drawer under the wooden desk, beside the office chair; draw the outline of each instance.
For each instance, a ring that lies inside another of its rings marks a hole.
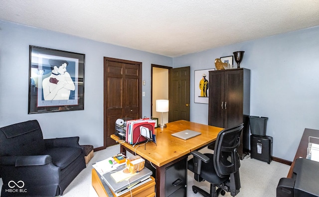
[[[187,158],[165,169],[165,197],[178,191],[178,197],[185,197],[187,192]],[[175,194],[173,195],[175,196]]]

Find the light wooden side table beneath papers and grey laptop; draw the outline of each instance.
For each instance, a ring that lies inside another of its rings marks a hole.
[[[132,196],[133,197],[155,197],[155,179],[151,177],[152,181],[147,182],[144,185],[141,185],[140,187],[134,188],[132,190]],[[108,196],[105,187],[108,187],[106,183],[101,179],[100,175],[96,172],[96,170],[92,169],[92,186],[96,193],[99,195],[99,197],[110,197]],[[116,197],[116,195],[111,191],[113,196]],[[125,193],[119,197],[131,197],[131,192]]]

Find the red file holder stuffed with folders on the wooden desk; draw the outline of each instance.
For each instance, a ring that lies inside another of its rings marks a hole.
[[[141,144],[148,140],[141,135],[140,127],[148,128],[150,131],[150,137],[152,138],[155,129],[155,121],[150,119],[139,119],[127,121],[126,127],[126,142],[129,144]]]

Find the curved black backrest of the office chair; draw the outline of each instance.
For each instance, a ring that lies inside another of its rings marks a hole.
[[[214,149],[214,168],[218,177],[227,177],[239,170],[240,158],[237,153],[243,123],[219,132]]]

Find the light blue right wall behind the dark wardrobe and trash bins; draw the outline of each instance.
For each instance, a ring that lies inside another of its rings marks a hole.
[[[194,70],[238,50],[245,51],[241,67],[251,70],[250,115],[269,117],[273,156],[292,161],[304,129],[319,129],[319,26],[174,58],[174,67],[192,73],[190,121],[208,124],[208,104],[194,103]]]

